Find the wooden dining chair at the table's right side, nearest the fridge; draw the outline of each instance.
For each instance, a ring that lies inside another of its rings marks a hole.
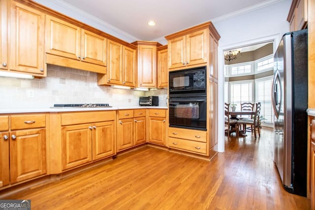
[[[260,108],[261,104],[260,102],[256,103],[255,105],[255,114],[253,115],[252,119],[241,119],[237,121],[237,136],[239,135],[240,132],[240,126],[245,124],[245,128],[247,125],[251,125],[252,127],[252,132],[254,133],[255,139],[257,138],[256,135],[256,130],[258,131],[258,135],[260,137],[260,122],[259,122],[259,116],[260,116]],[[245,129],[246,132],[246,129]]]

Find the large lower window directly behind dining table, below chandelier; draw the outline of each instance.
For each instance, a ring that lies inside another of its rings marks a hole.
[[[241,110],[241,103],[253,102],[253,80],[230,82],[230,103]]]

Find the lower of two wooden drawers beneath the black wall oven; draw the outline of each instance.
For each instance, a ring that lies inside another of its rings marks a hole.
[[[168,146],[178,149],[184,149],[188,151],[192,151],[195,153],[207,153],[207,143],[192,141],[192,140],[182,140],[169,137],[168,138]]]

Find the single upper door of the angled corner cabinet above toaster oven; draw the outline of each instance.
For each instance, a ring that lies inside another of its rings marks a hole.
[[[157,47],[138,45],[138,86],[157,87]]]

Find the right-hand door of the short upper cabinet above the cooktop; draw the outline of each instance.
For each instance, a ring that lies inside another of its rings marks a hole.
[[[81,31],[81,61],[106,66],[107,39],[83,29]]]

